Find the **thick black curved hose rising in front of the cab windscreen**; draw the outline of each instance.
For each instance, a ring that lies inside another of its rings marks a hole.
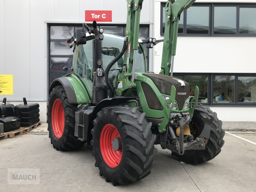
[[[110,63],[108,64],[108,66],[105,70],[105,82],[108,86],[111,97],[114,96],[114,90],[113,90],[113,87],[111,86],[111,84],[109,82],[108,73],[109,73],[110,68],[116,63],[116,61],[118,61],[124,55],[124,52],[126,51],[126,48],[127,48],[127,38],[124,40],[124,46],[123,46],[122,51],[112,61],[110,61]]]

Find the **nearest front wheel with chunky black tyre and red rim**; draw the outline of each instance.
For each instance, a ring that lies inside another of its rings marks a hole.
[[[145,113],[130,106],[110,106],[97,113],[93,125],[92,156],[106,182],[124,185],[150,174],[156,135]]]

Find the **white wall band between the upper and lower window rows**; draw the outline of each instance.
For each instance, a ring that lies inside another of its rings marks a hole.
[[[174,72],[253,73],[256,37],[179,36]],[[157,47],[158,46],[158,47]],[[156,45],[154,71],[159,72],[163,43]]]

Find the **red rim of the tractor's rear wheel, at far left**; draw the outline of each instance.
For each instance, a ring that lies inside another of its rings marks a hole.
[[[64,109],[60,99],[56,99],[52,105],[52,130],[57,138],[60,138],[64,131]]]

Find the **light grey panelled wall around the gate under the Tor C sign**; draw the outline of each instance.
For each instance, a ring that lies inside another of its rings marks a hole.
[[[153,0],[145,1],[141,23],[152,26],[153,7]],[[26,97],[37,102],[46,122],[47,23],[82,23],[85,10],[112,10],[111,23],[126,23],[125,0],[0,0],[0,74],[13,74],[13,95],[1,95],[0,100],[7,97],[7,103],[16,105]]]

